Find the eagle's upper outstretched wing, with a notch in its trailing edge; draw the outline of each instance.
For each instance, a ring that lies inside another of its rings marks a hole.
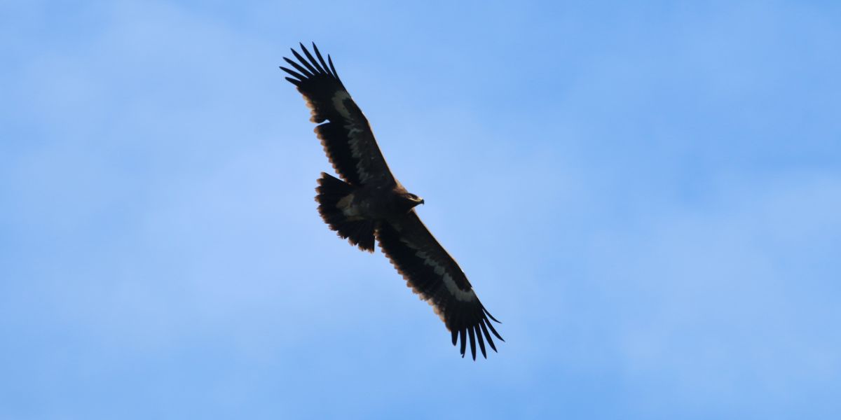
[[[303,44],[301,50],[306,55],[305,59],[294,49],[292,54],[298,61],[283,57],[294,70],[281,69],[292,76],[286,80],[304,95],[307,106],[312,110],[310,121],[322,123],[315,127],[315,134],[321,140],[333,169],[343,180],[355,186],[371,181],[394,183],[394,176],[379,151],[377,140],[373,138],[368,119],[345,90],[330,55],[325,62],[315,44],[313,50],[318,60]]]

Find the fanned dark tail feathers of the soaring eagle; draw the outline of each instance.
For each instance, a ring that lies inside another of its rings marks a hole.
[[[353,201],[353,186],[321,172],[315,192],[318,192],[315,196],[315,201],[319,204],[318,213],[324,222],[359,249],[373,252],[374,221],[354,219],[348,217],[344,211]]]

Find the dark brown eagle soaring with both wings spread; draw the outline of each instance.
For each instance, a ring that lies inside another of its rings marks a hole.
[[[368,119],[345,89],[331,56],[325,61],[315,43],[315,56],[304,44],[300,49],[306,58],[290,49],[297,61],[283,57],[292,68],[280,68],[304,96],[309,120],[319,124],[315,134],[341,177],[321,172],[315,188],[321,218],[359,249],[373,253],[376,240],[407,286],[442,319],[452,345],[461,343],[462,357],[469,339],[473,360],[477,341],[487,359],[485,341],[496,351],[491,334],[505,341],[490,322],[499,321],[479,302],[456,260],[415,213],[424,199],[406,191],[389,170]]]

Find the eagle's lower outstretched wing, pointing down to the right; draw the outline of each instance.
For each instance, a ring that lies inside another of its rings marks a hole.
[[[403,275],[408,286],[421,295],[422,300],[430,302],[447,325],[452,333],[452,345],[461,340],[462,357],[468,338],[473,360],[476,360],[477,340],[485,358],[488,356],[484,339],[496,351],[490,333],[497,339],[502,340],[502,337],[489,321],[496,321],[496,318],[482,306],[456,260],[438,244],[415,210],[397,220],[381,223],[376,235],[383,253]]]

